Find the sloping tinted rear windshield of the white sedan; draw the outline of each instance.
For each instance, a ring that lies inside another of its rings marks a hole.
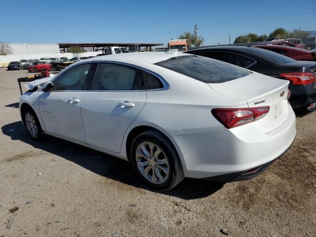
[[[251,74],[237,66],[195,55],[174,57],[155,64],[206,83],[222,83]]]

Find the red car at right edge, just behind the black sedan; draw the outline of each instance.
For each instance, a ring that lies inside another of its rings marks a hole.
[[[289,46],[281,45],[254,45],[256,48],[264,48],[282,55],[285,55],[289,58],[300,61],[316,61],[316,52],[312,52],[307,49],[302,48],[293,48]]]

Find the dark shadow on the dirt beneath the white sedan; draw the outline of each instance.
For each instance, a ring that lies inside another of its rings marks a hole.
[[[224,186],[224,183],[186,178],[173,190],[158,192],[144,185],[132,170],[130,163],[122,159],[52,136],[46,136],[44,142],[35,142],[27,134],[21,121],[6,124],[1,127],[1,130],[12,140],[20,140],[35,148],[68,159],[98,175],[151,192],[188,200],[207,197]]]

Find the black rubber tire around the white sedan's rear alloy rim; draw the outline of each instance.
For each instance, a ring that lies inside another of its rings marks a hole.
[[[147,180],[137,166],[136,151],[138,146],[144,142],[150,142],[157,145],[158,148],[160,148],[162,152],[165,154],[168,160],[169,174],[166,180],[160,184],[155,184]],[[145,131],[139,134],[134,139],[130,149],[130,158],[133,168],[140,177],[140,179],[143,180],[151,188],[161,191],[167,191],[174,188],[184,179],[182,164],[176,149],[166,136],[164,136],[156,130]]]

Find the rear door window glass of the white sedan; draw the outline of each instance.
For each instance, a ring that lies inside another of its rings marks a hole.
[[[100,63],[95,73],[92,90],[141,90],[142,71],[113,63]]]

